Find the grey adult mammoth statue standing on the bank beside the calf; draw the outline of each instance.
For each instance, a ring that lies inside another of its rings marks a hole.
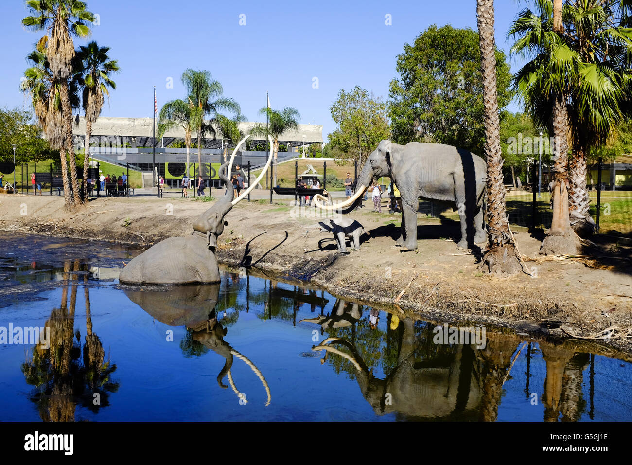
[[[487,166],[479,156],[444,144],[408,142],[405,146],[382,140],[367,159],[356,180],[355,194],[336,206],[326,205],[325,197],[315,195],[317,207],[325,210],[355,209],[374,179],[386,176],[401,192],[403,206],[401,237],[397,245],[406,251],[417,248],[418,199],[446,204],[458,210],[461,239],[458,246],[487,240],[483,228],[483,197]]]

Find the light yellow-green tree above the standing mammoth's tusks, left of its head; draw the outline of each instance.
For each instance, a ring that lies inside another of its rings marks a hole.
[[[329,144],[339,147],[344,158],[362,164],[362,156],[390,137],[386,104],[358,85],[351,92],[341,89],[329,111],[337,124],[328,136]]]

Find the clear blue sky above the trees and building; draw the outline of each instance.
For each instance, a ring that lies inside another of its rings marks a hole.
[[[382,96],[396,77],[396,56],[429,25],[477,29],[475,0],[87,1],[99,15],[92,40],[111,47],[121,73],[104,116],[152,116],[154,85],[158,106],[184,97],[186,68],[209,70],[248,120],[258,120],[270,92],[272,108],[293,106],[301,123],[334,130],[329,106],[340,89],[360,85]],[[42,35],[28,32],[22,0],[3,0],[0,15],[0,106],[25,106],[18,88],[25,56]],[[506,32],[521,5],[495,1],[497,46],[507,54]],[[385,25],[391,15],[392,25]],[[240,25],[245,15],[245,25]],[[242,16],[243,18],[243,16]],[[75,47],[85,40],[75,39]],[[513,63],[512,69],[516,69]],[[173,89],[167,88],[173,78]],[[318,88],[313,88],[318,78]],[[512,111],[519,109],[512,104]]]

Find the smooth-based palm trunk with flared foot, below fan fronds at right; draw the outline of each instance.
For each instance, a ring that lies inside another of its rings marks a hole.
[[[568,205],[568,113],[566,99],[558,95],[553,108],[553,180],[549,184],[553,220],[542,241],[540,254],[576,254],[580,240],[571,228]]]

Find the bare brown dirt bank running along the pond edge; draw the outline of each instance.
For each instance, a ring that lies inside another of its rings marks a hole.
[[[288,204],[235,206],[218,240],[219,261],[309,281],[340,297],[430,319],[480,322],[556,337],[590,337],[616,326],[614,338],[605,342],[631,351],[629,338],[616,338],[632,328],[629,241],[599,244],[612,257],[600,260],[599,266],[611,270],[569,259],[526,261],[536,277],[521,273],[499,278],[478,270],[480,249],[457,249],[459,228],[453,220],[420,215],[418,249],[403,252],[395,245],[399,214],[373,213],[372,202],[365,202],[363,209],[350,214],[364,226],[362,249],[348,247],[348,254],[338,254],[331,233],[311,227],[322,220],[313,216],[315,209],[307,209],[306,215],[289,206],[289,199],[278,202]],[[149,246],[190,234],[193,218],[211,205],[187,199],[102,197],[69,213],[63,197],[2,195],[0,230]],[[541,232],[514,235],[523,255],[540,257]]]

